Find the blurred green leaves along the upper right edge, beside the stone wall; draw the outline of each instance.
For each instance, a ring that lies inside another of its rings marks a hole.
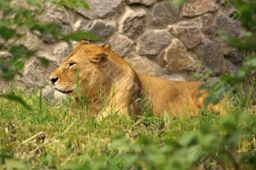
[[[234,74],[226,74],[221,77],[221,81],[231,89],[236,89],[237,83],[251,81],[254,83],[256,69],[256,1],[237,0],[231,2],[237,11],[241,13],[239,21],[246,29],[239,38],[230,36],[225,31],[220,31],[220,38],[227,41],[230,46],[244,52],[244,66]]]

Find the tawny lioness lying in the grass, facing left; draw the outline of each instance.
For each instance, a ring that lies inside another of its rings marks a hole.
[[[185,112],[195,115],[203,108],[205,97],[195,97],[202,84],[199,81],[143,76],[111,51],[111,45],[98,46],[86,41],[78,43],[63,59],[50,80],[56,90],[74,97],[75,102],[86,97],[88,113],[100,117],[113,112],[141,115],[149,110],[156,116],[163,113],[179,116]]]

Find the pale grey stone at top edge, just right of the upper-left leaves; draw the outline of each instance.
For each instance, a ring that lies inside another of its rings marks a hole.
[[[86,2],[88,2],[88,4],[90,5],[90,10],[78,8],[76,12],[80,13],[86,18],[89,18],[90,20],[94,20],[99,17],[109,17],[109,15],[115,13],[115,9],[122,3],[122,0],[88,0]]]

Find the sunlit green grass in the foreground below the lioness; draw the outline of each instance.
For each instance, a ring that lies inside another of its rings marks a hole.
[[[183,119],[69,115],[15,91],[31,106],[0,98],[0,169],[255,169],[255,117],[246,111]],[[247,101],[247,100],[245,100]],[[241,107],[239,105],[239,107]],[[245,109],[244,109],[245,110]]]

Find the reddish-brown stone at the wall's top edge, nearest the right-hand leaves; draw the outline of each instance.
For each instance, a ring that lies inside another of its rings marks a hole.
[[[182,15],[184,17],[195,17],[215,10],[216,4],[214,1],[189,0],[182,7]]]

